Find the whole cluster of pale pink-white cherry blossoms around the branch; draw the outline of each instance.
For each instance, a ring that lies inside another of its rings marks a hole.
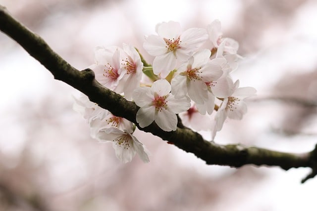
[[[138,126],[155,122],[164,131],[176,130],[180,114],[188,122],[210,122],[193,127],[210,129],[213,139],[226,118],[241,120],[247,112],[244,99],[255,95],[256,90],[239,87],[239,80],[233,82],[230,73],[237,69],[241,58],[237,54],[239,44],[222,37],[220,22],[215,20],[206,29],[182,31],[179,23],[169,21],[158,24],[156,32],[143,44],[154,56],[153,66],[142,60],[132,45],[123,43],[122,48],[97,47],[95,64],[89,67],[102,85],[140,107]],[[143,74],[153,84],[143,83]],[[87,96],[75,99],[74,110],[87,120],[93,138],[113,143],[119,160],[129,162],[137,153],[149,162],[147,149],[132,135],[136,127],[133,123],[113,116]]]

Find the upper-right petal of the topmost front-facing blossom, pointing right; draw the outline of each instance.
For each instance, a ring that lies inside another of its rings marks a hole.
[[[190,28],[180,36],[180,47],[195,50],[208,40],[206,29]]]

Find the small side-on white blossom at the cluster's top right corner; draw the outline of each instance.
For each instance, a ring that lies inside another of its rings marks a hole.
[[[221,23],[219,20],[214,20],[207,27],[209,39],[212,42],[212,48],[218,48],[222,43],[223,52],[236,54],[239,48],[239,43],[231,38],[222,38]]]

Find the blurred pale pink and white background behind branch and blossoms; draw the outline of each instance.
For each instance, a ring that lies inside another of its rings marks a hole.
[[[233,73],[254,86],[242,121],[226,121],[215,141],[301,153],[317,142],[316,0],[0,0],[77,69],[96,46],[132,43],[148,61],[144,36],[162,21],[183,29],[214,19],[245,59]],[[207,166],[149,133],[151,151],[121,164],[111,144],[90,138],[72,110],[79,91],[53,80],[0,33],[0,211],[315,211],[309,169]],[[315,103],[315,104],[314,104]],[[208,138],[209,132],[204,132]]]

